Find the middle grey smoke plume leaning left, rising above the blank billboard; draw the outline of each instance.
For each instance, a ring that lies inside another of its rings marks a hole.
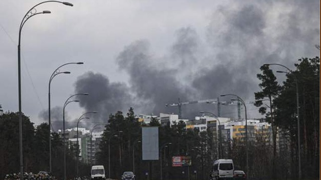
[[[136,98],[146,103],[143,112],[158,114],[172,111],[165,104],[174,99],[186,98],[190,89],[178,81],[177,70],[158,68],[153,65],[153,57],[149,54],[149,43],[139,40],[126,46],[118,55],[119,68],[130,75],[131,89]]]

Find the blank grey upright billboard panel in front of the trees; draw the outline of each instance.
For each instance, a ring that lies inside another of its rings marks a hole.
[[[142,159],[158,160],[158,127],[142,127]]]

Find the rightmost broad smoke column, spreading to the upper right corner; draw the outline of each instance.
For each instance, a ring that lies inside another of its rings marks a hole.
[[[314,3],[304,3],[304,7],[302,3],[300,0],[293,3],[237,2],[218,7],[213,13],[207,34],[215,63],[200,70],[193,87],[207,96],[235,93],[247,102],[253,101],[259,83],[256,74],[261,73],[259,68],[262,64],[281,63],[294,68],[300,56],[311,53],[313,44],[305,54],[295,56],[298,46],[293,39],[300,44],[319,40],[318,27],[313,27],[313,23],[306,23],[305,20],[312,22],[311,19],[317,19],[319,15],[315,13],[318,10],[307,10],[315,9],[312,7]],[[277,11],[276,8],[280,6],[287,7],[287,11]],[[310,18],[310,15],[313,17]]]

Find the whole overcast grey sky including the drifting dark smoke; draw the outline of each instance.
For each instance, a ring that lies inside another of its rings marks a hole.
[[[27,11],[39,0],[0,1],[0,104],[18,111],[18,35]],[[48,2],[24,25],[21,35],[22,110],[35,124],[48,122],[48,83],[60,65],[69,64],[51,82],[54,130],[107,121],[129,107],[136,114],[178,113],[167,103],[217,98],[234,93],[247,102],[248,116],[261,117],[250,102],[259,91],[260,66],[282,63],[294,69],[301,57],[319,50],[319,0],[69,0]],[[274,67],[275,70],[278,67]],[[284,69],[282,69],[284,70]],[[277,75],[279,82],[284,75]],[[231,97],[220,100],[229,100]],[[233,98],[233,97],[232,97]],[[237,117],[235,105],[221,116]],[[216,104],[182,107],[183,118],[199,111],[217,113]]]

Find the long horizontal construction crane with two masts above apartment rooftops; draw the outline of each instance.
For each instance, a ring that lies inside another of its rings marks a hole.
[[[194,103],[212,103],[217,104],[217,115],[221,116],[221,107],[220,105],[236,105],[238,103],[235,103],[234,101],[220,101],[219,98],[215,99],[204,99],[204,100],[193,100],[193,101],[187,101],[187,102],[181,102],[180,98],[178,100],[178,103],[171,103],[171,104],[165,104],[166,107],[168,106],[178,106],[179,107],[179,118],[182,116],[182,105],[188,105],[188,104],[194,104]]]

